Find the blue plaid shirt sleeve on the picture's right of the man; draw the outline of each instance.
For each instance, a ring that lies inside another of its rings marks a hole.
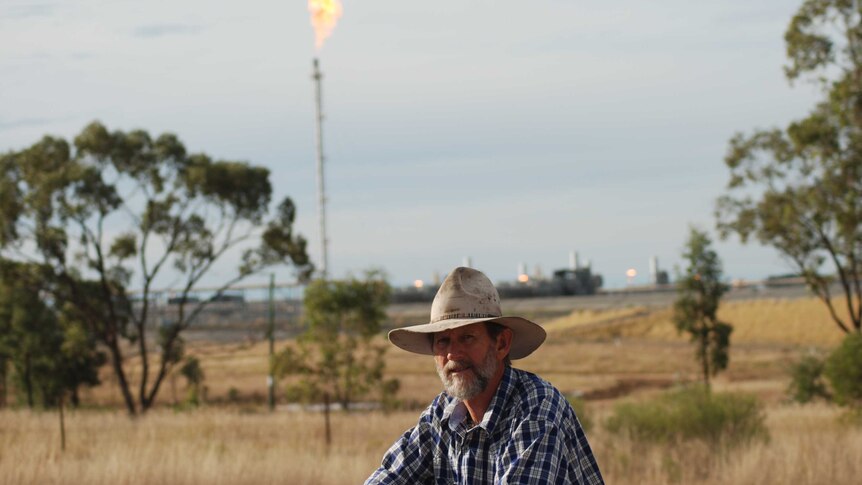
[[[496,483],[603,485],[604,480],[583,432],[575,433],[572,442],[567,442],[565,434],[559,426],[548,421],[521,423],[501,451],[504,468]]]

